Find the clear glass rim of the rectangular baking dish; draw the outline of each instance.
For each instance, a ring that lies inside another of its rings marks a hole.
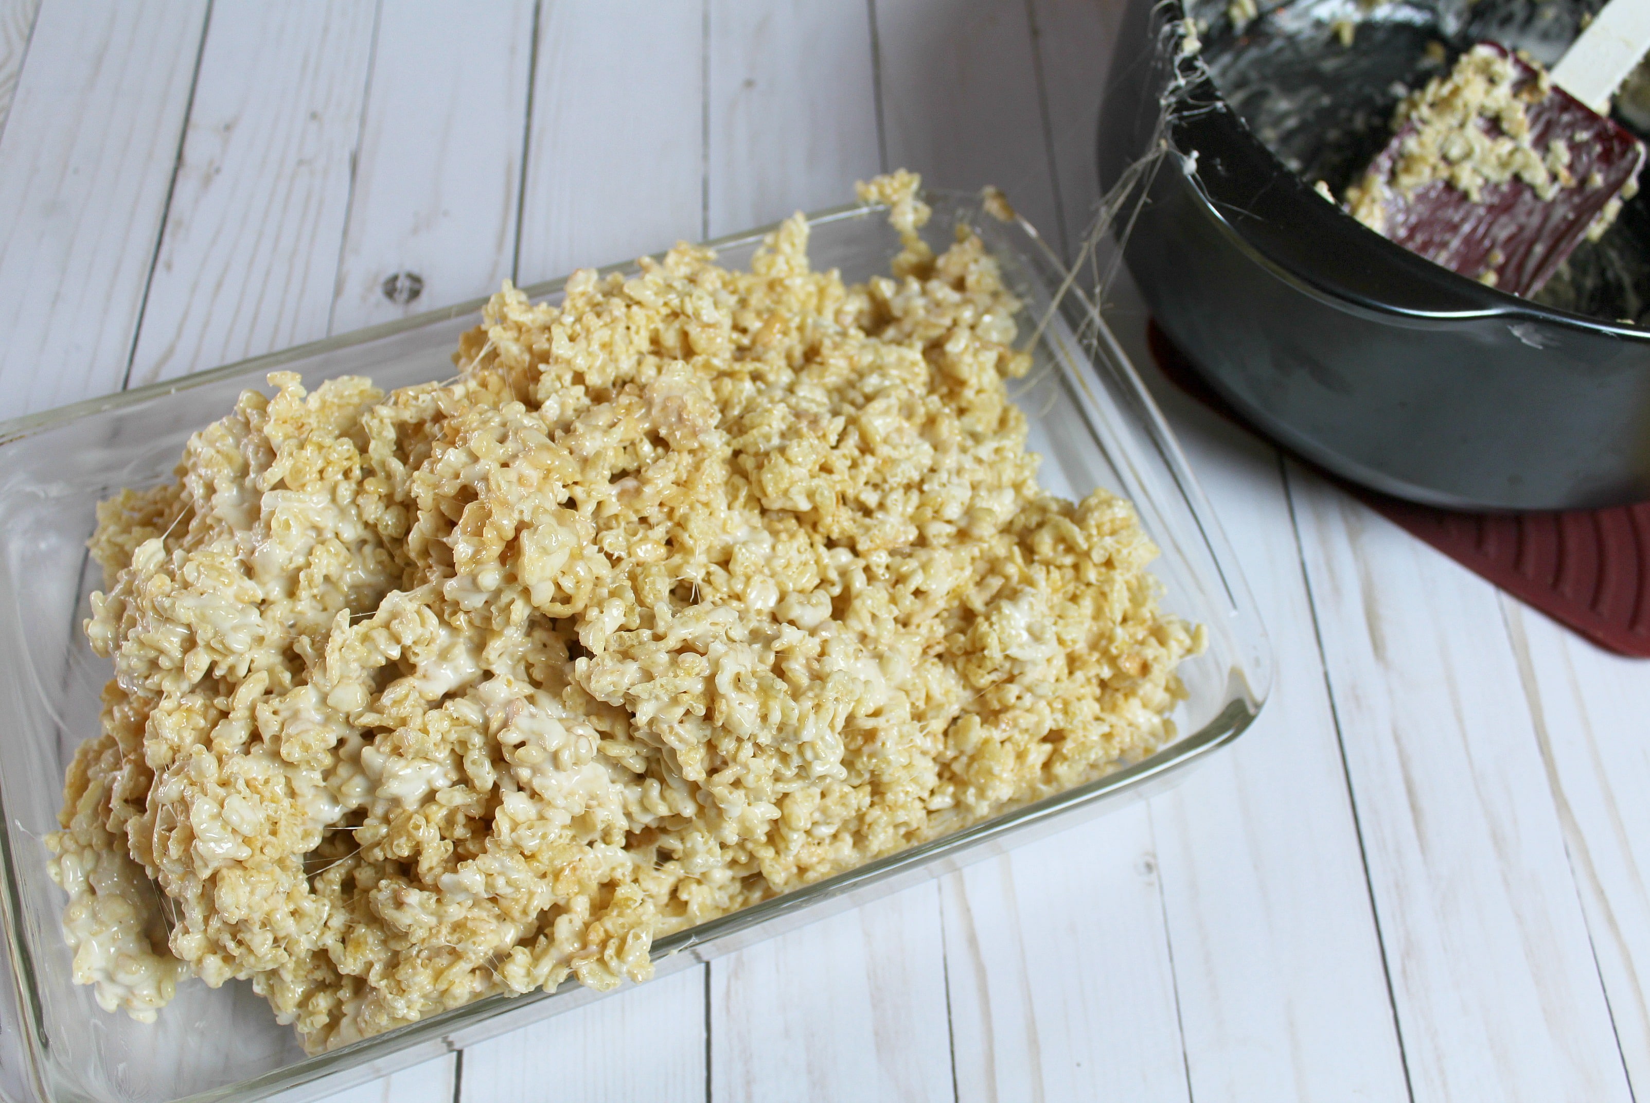
[[[1036,244],[1044,262],[1053,265],[1056,272],[1071,275],[1068,265],[1053,252],[1036,228],[1026,221],[1018,213],[1013,218],[1002,218],[995,211],[988,211],[982,203],[982,196],[975,193],[940,190],[940,188],[922,188],[921,196],[931,203],[949,203],[972,211],[980,211],[987,218],[997,218],[1003,223],[1015,224],[1026,239]],[[802,218],[810,228],[825,226],[832,223],[840,223],[846,219],[860,219],[870,214],[888,211],[888,204],[879,201],[860,201],[846,203],[838,206],[823,208],[818,211],[804,211]],[[780,229],[784,223],[776,221],[752,229],[738,231],[733,234],[724,234],[721,237],[713,237],[703,242],[696,242],[700,247],[708,247],[716,252],[724,249],[733,249],[739,246],[751,246],[761,242],[767,234]],[[647,254],[642,259],[660,260],[665,252]],[[599,275],[607,275],[612,272],[634,270],[639,260],[622,260],[614,264],[606,264],[594,269]],[[561,275],[551,280],[543,280],[538,284],[525,285],[520,290],[530,298],[540,298],[544,295],[553,295],[554,292],[566,287],[568,280],[573,277]],[[932,875],[939,875],[942,867],[937,861],[947,854],[955,854],[959,857],[970,856],[970,852],[978,851],[985,844],[997,838],[1015,836],[1023,829],[1035,828],[1038,824],[1054,821],[1063,813],[1072,811],[1086,805],[1099,805],[1102,798],[1109,795],[1124,795],[1130,790],[1138,790],[1150,781],[1163,778],[1170,773],[1180,772],[1196,762],[1206,758],[1211,752],[1224,747],[1241,735],[1261,714],[1267,697],[1270,696],[1272,683],[1272,656],[1270,641],[1266,635],[1266,627],[1261,622],[1259,610],[1254,605],[1254,598],[1249,594],[1247,584],[1241,572],[1236,579],[1228,575],[1228,569],[1234,567],[1231,546],[1219,528],[1218,519],[1209,509],[1208,500],[1201,493],[1195,476],[1191,475],[1190,465],[1180,450],[1173,432],[1168,429],[1157,402],[1152,399],[1150,391],[1140,381],[1134,369],[1132,361],[1127,353],[1120,348],[1110,328],[1106,325],[1096,302],[1076,284],[1074,279],[1068,279],[1061,287],[1059,293],[1054,295],[1051,305],[1053,310],[1059,308],[1061,295],[1069,297],[1076,308],[1091,322],[1096,328],[1094,333],[1106,345],[1107,356],[1124,369],[1124,383],[1129,384],[1132,396],[1140,402],[1140,409],[1134,411],[1142,414],[1145,425],[1142,429],[1148,430],[1152,444],[1160,450],[1165,473],[1172,478],[1175,490],[1185,500],[1186,509],[1191,519],[1198,524],[1198,534],[1203,537],[1204,546],[1209,552],[1209,561],[1219,577],[1226,595],[1231,602],[1231,610],[1242,617],[1244,630],[1252,636],[1254,655],[1242,655],[1241,661],[1228,671],[1226,679],[1226,697],[1221,711],[1203,724],[1198,730],[1188,732],[1175,739],[1167,747],[1158,752],[1142,758],[1140,762],[1130,763],[1112,773],[1094,778],[1092,781],[1072,786],[1061,793],[1041,798],[1038,801],[1023,803],[1020,806],[1010,806],[1005,811],[983,819],[980,823],[970,824],[964,829],[954,831],[950,834],[940,836],[937,839],[929,839],[926,843],[911,846],[904,851],[883,856],[863,866],[843,871],[823,880],[817,880],[799,889],[792,889],[780,895],[771,897],[759,904],[719,915],[716,918],[706,920],[686,930],[667,935],[653,943],[650,958],[653,961],[663,961],[673,958],[680,953],[690,953],[700,961],[708,961],[716,955],[700,955],[698,946],[713,945],[723,938],[738,935],[746,930],[752,930],[767,923],[771,920],[780,918],[784,915],[802,912],[812,905],[823,904],[838,897],[855,894],[861,889],[870,889],[878,882],[899,877],[901,874],[919,872],[927,867]],[[229,364],[218,368],[190,373],[177,379],[163,379],[158,383],[145,384],[142,387],[134,387],[130,391],[119,391],[107,396],[97,396],[91,399],[82,399],[78,402],[69,402],[64,406],[56,406],[35,414],[23,414],[18,417],[0,420],[0,448],[13,445],[30,435],[46,432],[74,420],[91,417],[96,414],[109,414],[122,411],[125,407],[140,406],[152,399],[168,397],[173,394],[182,394],[193,391],[201,386],[210,386],[226,379],[234,379],[239,376],[257,376],[267,371],[279,369],[284,364],[304,361],[314,356],[346,350],[356,345],[366,345],[388,336],[396,336],[411,330],[417,330],[427,325],[437,325],[442,322],[452,322],[464,315],[475,315],[490,302],[492,295],[465,300],[462,303],[454,303],[450,307],[437,307],[432,310],[408,315],[404,318],[394,318],[391,322],[383,322],[373,326],[363,326],[358,330],[350,330],[335,336],[325,336],[304,345],[295,345],[292,348],[277,350],[272,353],[264,353],[259,356],[249,356]],[[1089,389],[1089,381],[1077,371],[1072,371],[1071,364],[1066,364],[1063,358],[1058,358],[1063,364],[1063,373],[1068,374],[1069,381],[1079,387]],[[1211,531],[1213,529],[1213,531]],[[1254,663],[1254,666],[1251,666]],[[1142,793],[1143,796],[1143,793]],[[35,993],[36,981],[35,976],[38,969],[33,965],[33,955],[26,943],[18,936],[18,917],[25,913],[26,905],[20,899],[20,880],[16,875],[16,861],[13,854],[13,846],[16,844],[15,834],[12,831],[10,819],[5,816],[3,795],[0,795],[0,879],[3,879],[3,892],[0,892],[0,923],[3,923],[3,932],[7,938],[7,955],[10,956],[10,965],[13,968],[13,989],[18,997],[18,1032],[23,1035],[23,1058],[26,1063],[26,1078],[30,1087],[38,1093],[38,1098],[48,1100],[50,1093],[45,1093],[46,1077],[43,1063],[46,1060],[46,1052],[50,1050],[50,1039],[45,1034],[43,1011],[38,1006],[38,996]],[[964,857],[964,864],[974,861],[972,857]],[[26,983],[25,983],[26,978]],[[396,1054],[401,1050],[409,1050],[419,1044],[429,1042],[446,1042],[446,1050],[460,1049],[464,1044],[454,1044],[450,1037],[464,1032],[467,1027],[478,1026],[495,1016],[502,1016],[512,1009],[528,1007],[531,1004],[541,1002],[553,996],[573,991],[578,988],[578,981],[569,978],[554,991],[535,991],[520,996],[515,994],[493,994],[474,1002],[454,1007],[437,1016],[431,1016],[421,1022],[412,1022],[396,1030],[383,1035],[361,1039],[350,1045],[340,1047],[337,1050],[314,1054],[304,1057],[297,1063],[289,1063],[280,1068],[272,1068],[269,1072],[239,1080],[234,1083],[226,1083],[218,1088],[208,1088],[205,1091],[196,1091],[195,1095],[180,1096],[177,1103],[206,1103],[210,1100],[231,1100],[231,1098],[266,1098],[272,1093],[300,1088],[318,1078],[332,1075],[335,1072],[343,1072],[346,1068],[358,1067],[371,1060],[371,1055],[378,1050],[384,1050],[384,1055]],[[630,988],[630,986],[625,986]],[[622,989],[620,989],[622,991]],[[523,1024],[525,1026],[525,1024]],[[342,1088],[340,1088],[342,1090]],[[20,1101],[21,1103],[21,1101]]]

